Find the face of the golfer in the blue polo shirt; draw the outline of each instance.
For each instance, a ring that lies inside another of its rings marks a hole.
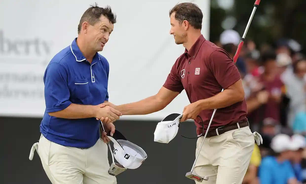
[[[114,30],[114,24],[104,15],[101,15],[100,20],[97,21],[95,25],[87,24],[85,29],[88,47],[94,52],[99,52],[103,50],[105,44],[109,40],[110,33]]]

